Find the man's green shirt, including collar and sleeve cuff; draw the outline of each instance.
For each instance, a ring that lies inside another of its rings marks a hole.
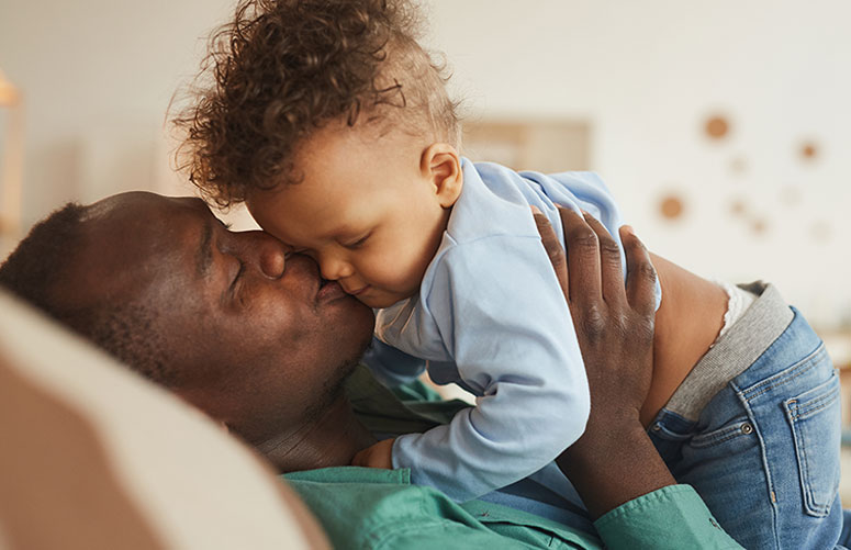
[[[439,401],[422,384],[390,392],[365,369],[355,372],[347,392],[361,422],[381,434],[428,429],[468,406]],[[340,549],[741,548],[688,485],[630,501],[594,521],[597,532],[591,534],[485,501],[455,503],[412,485],[406,469],[339,467],[284,478]]]

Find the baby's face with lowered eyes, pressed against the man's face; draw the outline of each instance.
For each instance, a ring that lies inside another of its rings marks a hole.
[[[292,251],[314,258],[322,277],[387,307],[417,292],[449,215],[421,154],[397,132],[378,138],[329,125],[296,151],[302,181],[253,193],[248,209]]]

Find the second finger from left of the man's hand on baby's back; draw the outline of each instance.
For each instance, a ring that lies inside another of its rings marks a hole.
[[[594,229],[570,209],[559,207],[564,227],[570,272],[570,301],[587,303],[602,296],[600,282],[600,244]]]

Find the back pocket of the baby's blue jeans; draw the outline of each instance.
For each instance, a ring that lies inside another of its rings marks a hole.
[[[795,438],[804,509],[824,517],[839,491],[839,377],[783,403]]]

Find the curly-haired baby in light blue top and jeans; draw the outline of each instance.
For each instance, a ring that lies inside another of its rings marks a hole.
[[[458,501],[529,475],[570,497],[552,460],[582,435],[587,381],[530,207],[557,234],[557,205],[584,211],[615,239],[620,214],[593,173],[463,158],[414,15],[392,0],[240,4],[213,44],[215,82],[178,121],[191,179],[220,205],[245,201],[376,308],[366,360],[381,380],[427,368],[477,395],[449,425],[381,441],[356,464],[407,468]],[[838,380],[820,340],[771,285],[654,263],[641,415],[673,474],[748,548],[838,536]]]

